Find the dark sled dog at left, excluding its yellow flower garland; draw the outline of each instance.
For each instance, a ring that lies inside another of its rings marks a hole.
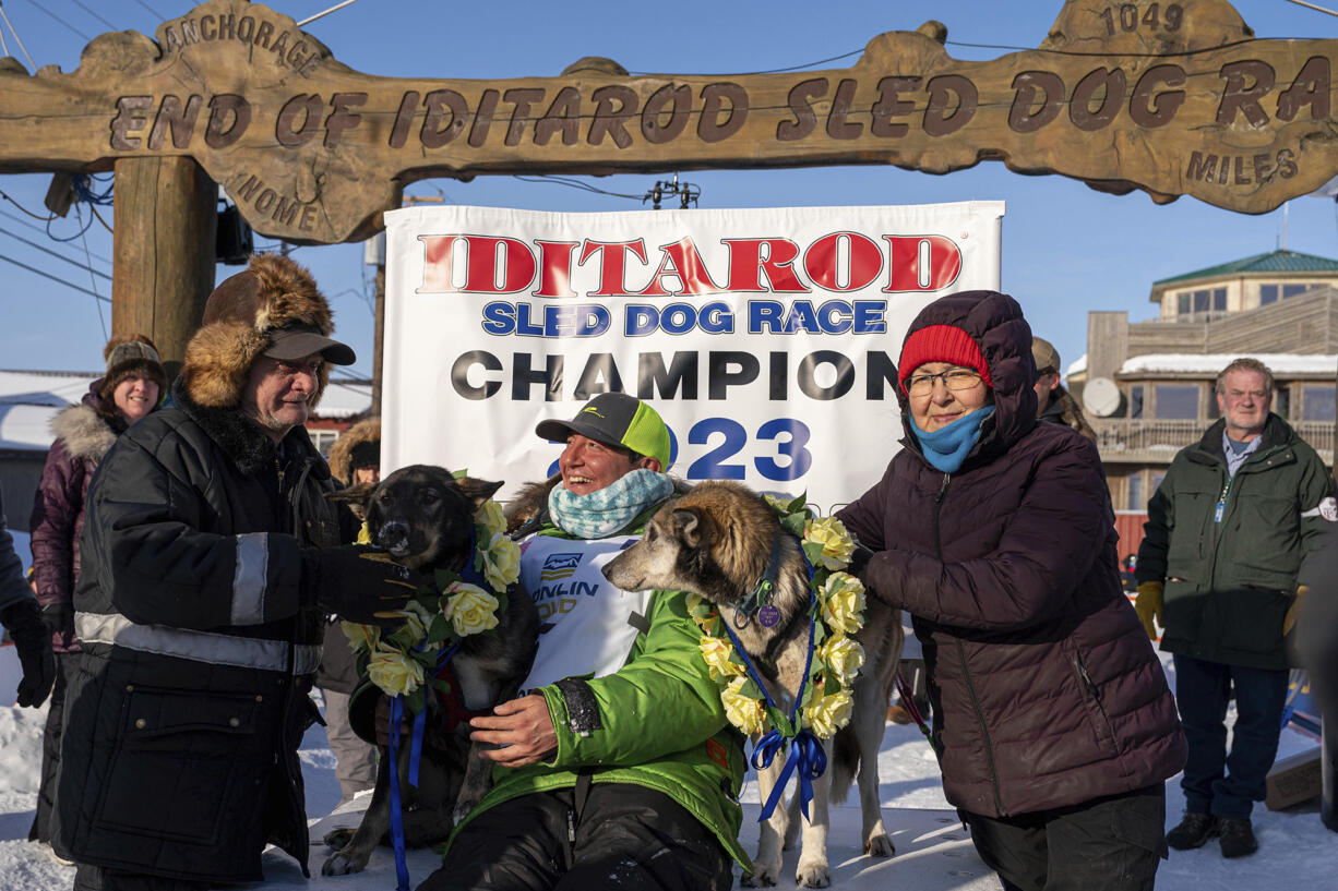
[[[502,483],[468,476],[455,479],[444,467],[404,467],[365,494],[367,528],[373,543],[409,569],[459,571],[474,559],[474,512],[500,487]],[[496,629],[464,637],[451,660],[466,709],[482,712],[515,697],[534,661],[538,634],[534,601],[512,586]],[[363,823],[357,829],[334,829],[325,836],[334,854],[321,867],[324,875],[363,871],[377,843],[389,842],[391,783],[400,784],[408,847],[444,840],[455,821],[487,793],[491,761],[479,756],[479,744],[470,742],[468,724],[462,721],[450,732],[434,732],[432,728],[444,725],[443,706],[431,694],[425,702],[428,730],[417,787],[407,781],[408,740],[399,748],[396,765],[389,764],[383,749]]]

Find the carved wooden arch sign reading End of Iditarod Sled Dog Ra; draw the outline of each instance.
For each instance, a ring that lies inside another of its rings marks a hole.
[[[1338,41],[1255,40],[1224,0],[1069,0],[993,62],[930,21],[851,68],[743,76],[380,78],[245,0],[155,36],[102,35],[70,74],[0,60],[0,170],[189,155],[254,229],[309,243],[368,237],[395,181],[429,177],[1002,161],[1263,213],[1338,173]]]

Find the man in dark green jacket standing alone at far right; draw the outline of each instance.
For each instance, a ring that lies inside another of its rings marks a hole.
[[[1283,637],[1295,622],[1297,574],[1338,520],[1333,478],[1276,415],[1272,373],[1238,359],[1218,376],[1222,419],[1175,456],[1148,502],[1135,607],[1163,626],[1189,744],[1176,850],[1220,837],[1227,858],[1254,854],[1254,801],[1264,797],[1287,696]],[[1236,721],[1227,752],[1227,704]]]

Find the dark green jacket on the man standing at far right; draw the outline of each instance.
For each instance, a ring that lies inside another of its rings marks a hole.
[[[1282,669],[1282,619],[1302,561],[1329,526],[1318,508],[1333,496],[1333,478],[1276,415],[1268,415],[1259,447],[1228,476],[1224,425],[1219,420],[1171,462],[1148,502],[1136,577],[1165,582],[1163,650]]]

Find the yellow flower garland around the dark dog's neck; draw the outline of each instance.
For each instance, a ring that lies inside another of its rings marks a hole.
[[[507,589],[520,577],[520,549],[507,538],[496,502],[487,500],[474,512],[474,577],[482,577],[491,591],[456,573],[438,570],[435,586],[420,587],[397,613],[404,621],[393,631],[341,622],[353,653],[367,654],[372,684],[389,696],[405,697],[411,713],[423,710],[424,686],[450,689],[434,677],[439,650],[496,627],[498,614],[507,605]]]

